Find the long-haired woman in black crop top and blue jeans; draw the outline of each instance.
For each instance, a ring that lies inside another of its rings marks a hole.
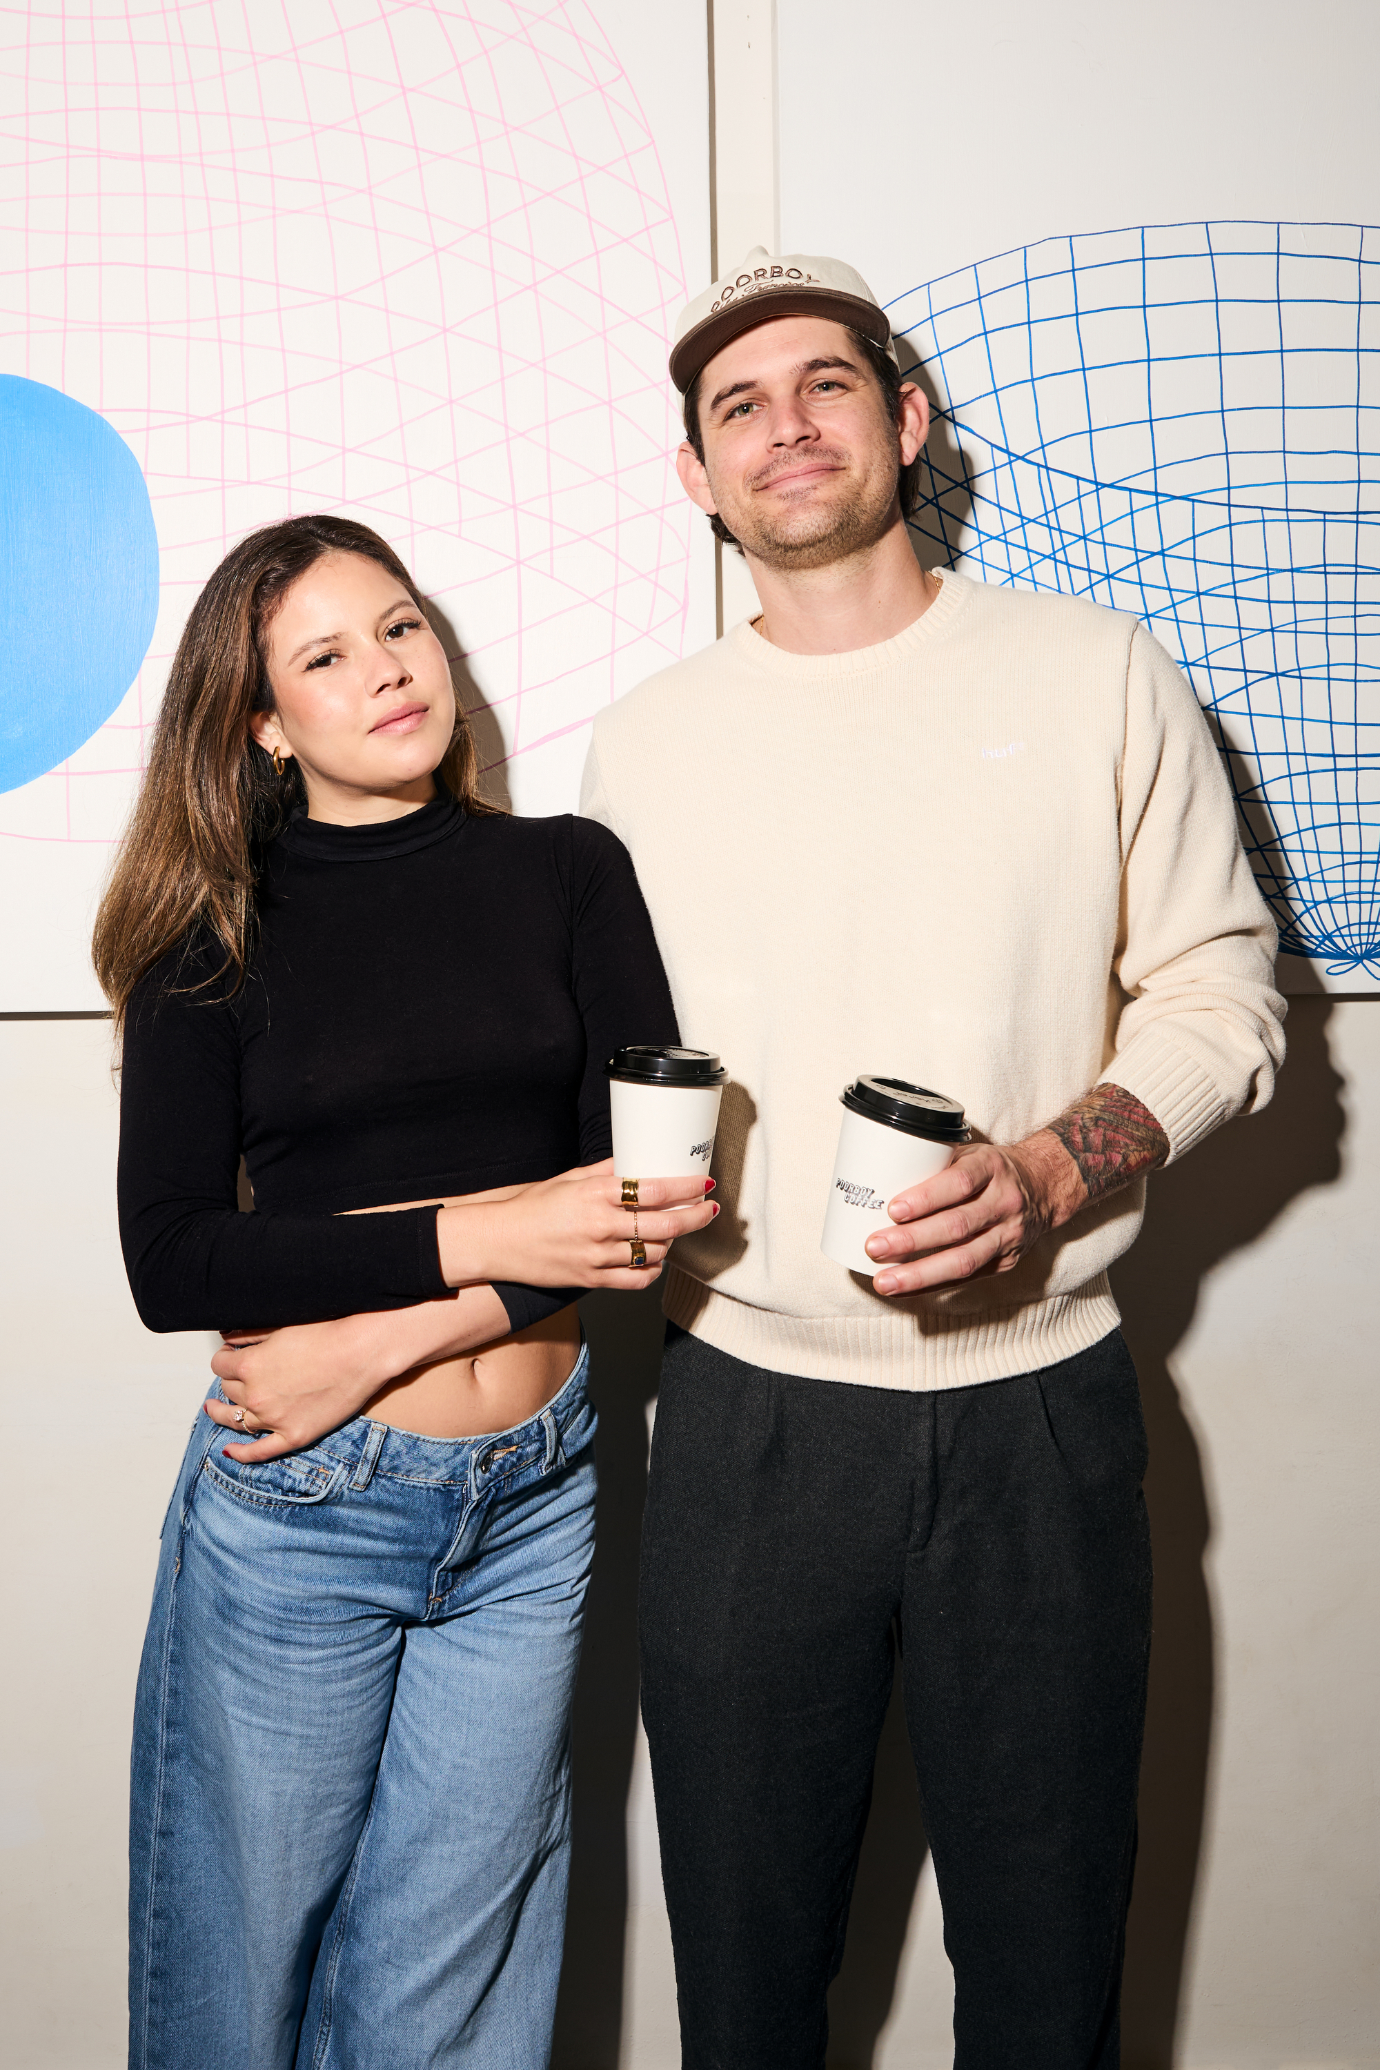
[[[534,2070],[592,1548],[573,1300],[716,1211],[641,1182],[629,1228],[606,1159],[604,1058],[677,1039],[631,863],[482,803],[416,584],[300,518],[192,609],[95,965],[139,1312],[232,1339],[139,1679],[130,2062]]]

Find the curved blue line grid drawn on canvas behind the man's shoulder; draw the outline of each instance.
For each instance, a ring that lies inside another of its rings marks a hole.
[[[923,559],[1144,617],[1281,948],[1380,977],[1380,230],[1047,238],[890,315],[939,404]]]

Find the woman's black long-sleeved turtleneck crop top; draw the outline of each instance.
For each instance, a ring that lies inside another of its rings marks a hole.
[[[120,1240],[149,1329],[447,1294],[434,1205],[346,1211],[608,1157],[604,1060],[679,1039],[623,842],[569,816],[472,818],[449,795],[374,826],[294,818],[234,994],[221,963],[192,934],[128,1008]],[[497,1292],[521,1329],[577,1290]]]

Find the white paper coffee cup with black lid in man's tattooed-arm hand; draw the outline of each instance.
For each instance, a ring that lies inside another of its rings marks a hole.
[[[826,1259],[854,1273],[881,1271],[869,1259],[869,1236],[894,1230],[888,1201],[906,1186],[943,1172],[954,1151],[970,1141],[964,1110],[943,1093],[906,1078],[854,1078],[842,1093],[844,1120],[830,1180],[819,1248]]]

